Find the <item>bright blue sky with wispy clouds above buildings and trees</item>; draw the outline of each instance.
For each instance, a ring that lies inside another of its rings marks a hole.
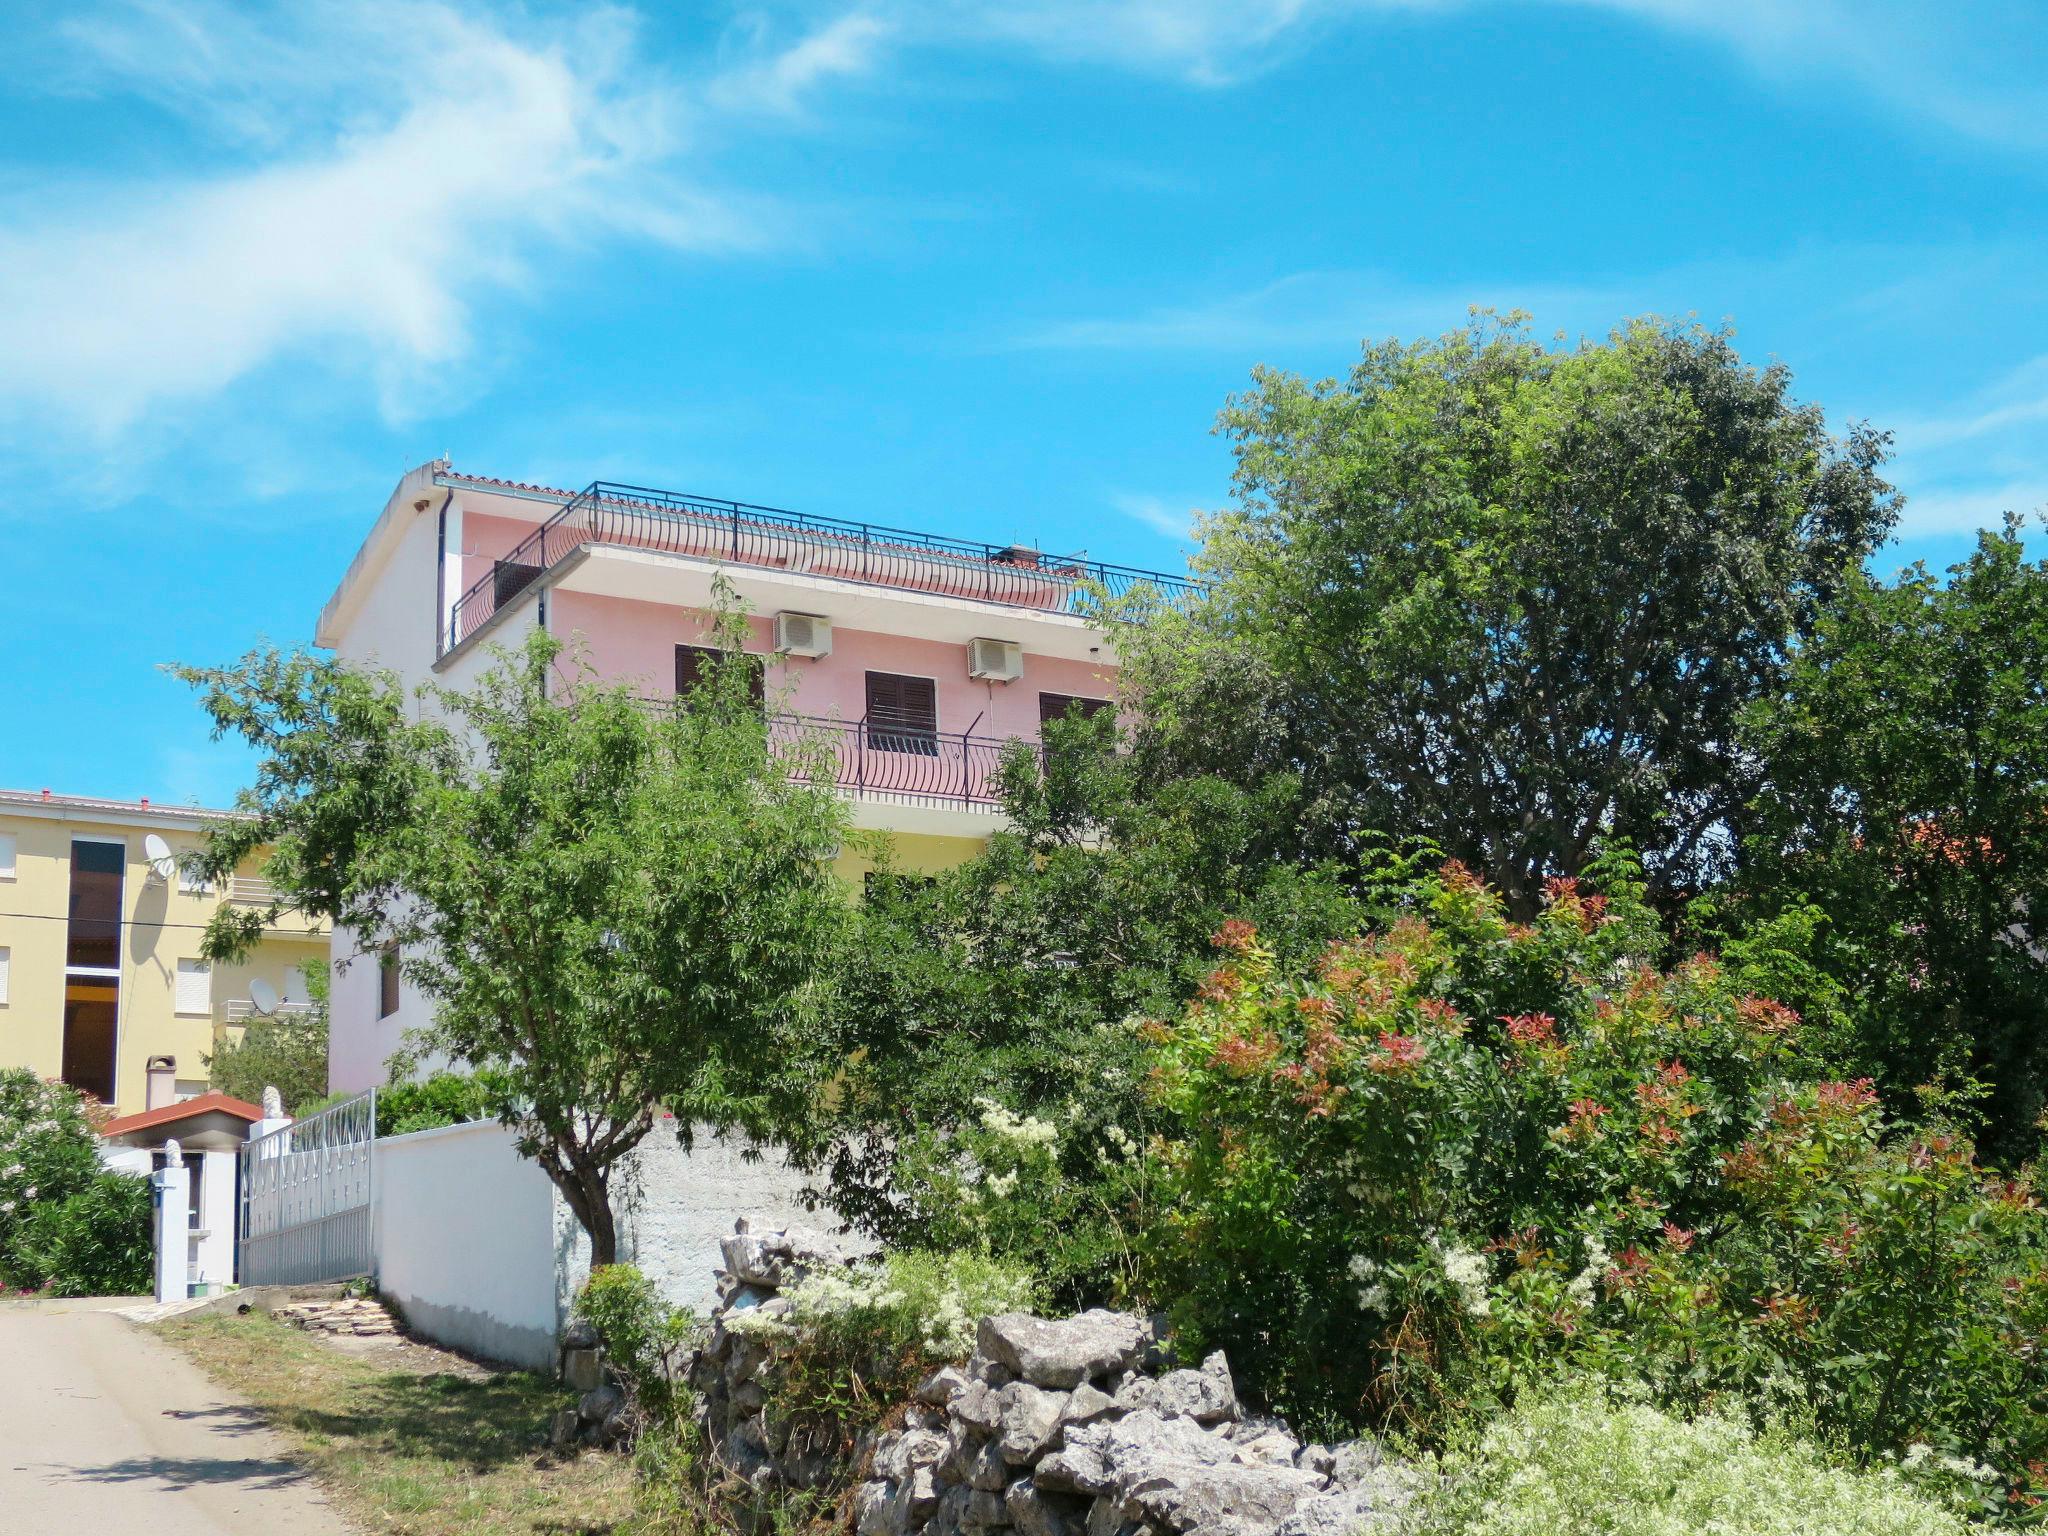
[[[1731,319],[2048,504],[2048,14],[1886,0],[0,4],[0,784],[225,801],[397,475],[1178,569],[1255,362]],[[1888,557],[1892,563],[1892,557]]]

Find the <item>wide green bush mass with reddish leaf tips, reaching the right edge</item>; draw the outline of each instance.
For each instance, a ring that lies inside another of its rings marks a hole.
[[[1559,1364],[1753,1399],[1864,1458],[2048,1489],[2048,1217],[1925,1096],[1825,1081],[1745,961],[1669,971],[1626,864],[1534,924],[1446,866],[1288,975],[1249,926],[1155,1024],[1180,1133],[1149,1253],[1198,1348],[1296,1415],[1423,1440]]]

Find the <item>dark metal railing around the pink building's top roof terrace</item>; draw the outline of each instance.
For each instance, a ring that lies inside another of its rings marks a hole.
[[[541,571],[586,545],[696,555],[1036,612],[1090,614],[1102,600],[1141,588],[1149,588],[1161,602],[1184,606],[1202,592],[1202,584],[1184,575],[1044,555],[1020,545],[983,545],[772,506],[594,481],[563,502],[510,555],[494,561],[492,569],[457,600],[449,612],[444,647],[455,649],[475,635]]]

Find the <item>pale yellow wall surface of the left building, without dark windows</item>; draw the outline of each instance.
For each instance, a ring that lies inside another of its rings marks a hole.
[[[0,805],[0,838],[14,840],[14,874],[0,866],[0,948],[8,952],[6,1001],[0,1004],[0,1067],[29,1067],[43,1077],[63,1071],[66,940],[72,889],[72,840],[92,838],[123,846],[119,997],[115,1026],[115,1108],[145,1108],[145,1063],[176,1059],[176,1077],[203,1087],[203,1057],[213,1051],[215,1024],[229,1001],[248,999],[248,983],[262,977],[281,993],[293,969],[328,961],[328,938],[303,922],[268,934],[246,963],[217,965],[209,977],[205,1012],[180,1014],[176,975],[180,958],[199,958],[207,920],[225,893],[188,893],[172,874],[150,877],[143,838],[156,831],[172,852],[203,844],[190,815],[133,813],[96,817],[92,811],[20,811]],[[72,985],[80,979],[72,977]],[[90,983],[88,983],[90,985]],[[295,987],[303,991],[303,987]]]

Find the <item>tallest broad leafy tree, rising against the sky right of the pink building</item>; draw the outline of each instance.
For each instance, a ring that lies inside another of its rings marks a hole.
[[[1726,856],[1759,774],[1737,719],[1894,516],[1882,434],[1655,319],[1262,369],[1219,430],[1214,592],[1118,639],[1153,774],[1282,774],[1305,852],[1425,836],[1520,915],[1602,842],[1661,893]]]

